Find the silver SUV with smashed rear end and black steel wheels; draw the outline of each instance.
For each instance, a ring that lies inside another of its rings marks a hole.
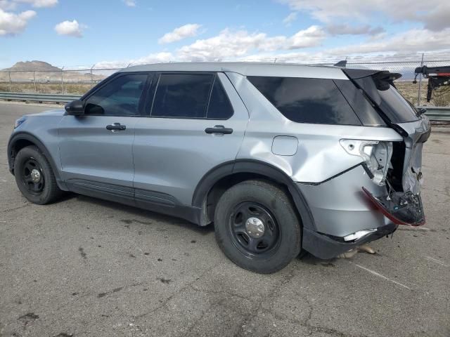
[[[63,191],[205,226],[240,267],[281,270],[421,225],[430,123],[400,74],[189,62],[129,67],[15,124],[8,163],[35,204]]]

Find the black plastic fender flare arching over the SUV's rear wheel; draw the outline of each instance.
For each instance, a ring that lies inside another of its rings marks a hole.
[[[215,183],[226,176],[232,176],[235,173],[255,173],[265,176],[276,183],[285,185],[293,198],[297,212],[302,219],[302,225],[311,230],[316,230],[314,218],[309,209],[306,199],[297,187],[296,183],[285,172],[276,166],[267,164],[264,161],[252,159],[237,159],[235,161],[227,161],[223,164],[215,166],[208,171],[200,180],[193,194],[192,206],[202,208],[207,194],[210,192]]]

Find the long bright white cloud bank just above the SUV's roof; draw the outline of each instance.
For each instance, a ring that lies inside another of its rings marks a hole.
[[[358,44],[310,51],[306,48],[321,46],[326,33],[369,35]],[[174,51],[153,53],[131,63],[151,63],[168,61],[210,61],[210,60],[262,60],[274,62],[334,64],[349,56],[352,60],[361,55],[375,59],[386,55],[400,55],[402,59],[418,58],[419,53],[450,51],[450,28],[434,32],[431,29],[409,29],[397,34],[386,34],[383,29],[368,25],[313,25],[292,36],[269,36],[264,32],[233,31],[224,29],[207,39],[198,39]],[[371,35],[372,34],[372,35]],[[301,51],[305,49],[305,51]],[[124,65],[126,66],[126,65]]]

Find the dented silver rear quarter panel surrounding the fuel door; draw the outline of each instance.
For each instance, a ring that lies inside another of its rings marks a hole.
[[[281,169],[295,182],[320,183],[362,162],[340,146],[339,140],[402,141],[392,128],[295,123],[285,118],[255,86],[240,74],[227,73],[250,113],[245,139],[238,159],[261,160]],[[299,141],[294,156],[272,152],[277,136]]]

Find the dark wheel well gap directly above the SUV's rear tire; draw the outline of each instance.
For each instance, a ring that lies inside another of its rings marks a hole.
[[[230,187],[233,187],[238,183],[242,183],[245,180],[264,180],[267,183],[271,183],[272,185],[276,185],[277,187],[281,188],[281,190],[283,190],[283,192],[285,192],[285,194],[290,199],[295,213],[297,213],[299,220],[301,220],[300,214],[297,211],[297,207],[295,207],[293,196],[292,194],[290,194],[288,186],[262,174],[241,172],[233,173],[230,176],[221,178],[211,187],[205,199],[205,211],[207,217],[205,225],[207,223],[212,223],[212,221],[214,220],[214,211],[216,209],[217,202],[219,201],[222,194],[224,194],[224,192]]]

